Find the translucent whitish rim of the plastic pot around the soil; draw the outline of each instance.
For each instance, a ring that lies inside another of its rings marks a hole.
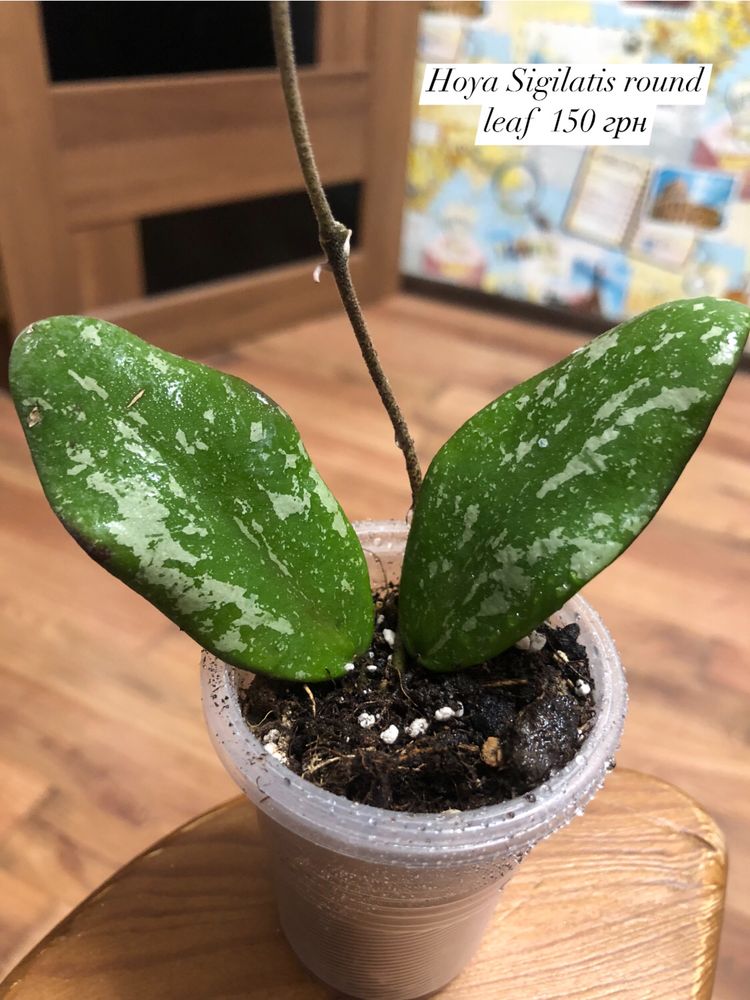
[[[400,521],[355,523],[360,538],[383,536],[403,545],[408,525]],[[370,547],[370,551],[372,548]],[[225,767],[256,806],[306,839],[352,856],[383,860],[427,860],[441,854],[482,854],[503,849],[525,853],[567,823],[603,783],[614,766],[626,707],[625,675],[599,615],[580,595],[551,621],[581,625],[594,676],[596,717],[576,756],[532,793],[460,813],[407,813],[361,805],[319,788],[272,757],[247,727],[237,697],[246,671],[203,652],[202,685],[206,722]],[[248,680],[249,683],[249,680]],[[404,857],[401,857],[404,855]]]

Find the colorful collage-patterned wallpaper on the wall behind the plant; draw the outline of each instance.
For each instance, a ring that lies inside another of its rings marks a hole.
[[[750,3],[432,4],[417,77],[590,53],[712,63],[706,104],[660,108],[651,144],[624,148],[475,146],[476,109],[415,105],[403,270],[606,320],[706,291],[747,301]]]

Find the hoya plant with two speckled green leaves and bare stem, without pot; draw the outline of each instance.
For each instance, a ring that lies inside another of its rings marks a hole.
[[[554,613],[648,524],[727,388],[750,310],[691,299],[623,323],[471,417],[421,482],[351,284],[350,234],[315,168],[288,11],[272,10],[321,246],[412,487],[396,656],[469,667]],[[261,389],[77,316],[24,330],[10,382],[65,528],[205,649],[300,682],[339,677],[367,650],[360,543]]]

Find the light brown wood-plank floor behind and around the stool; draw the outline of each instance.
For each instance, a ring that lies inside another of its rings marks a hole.
[[[581,338],[409,297],[371,310],[420,453]],[[211,359],[293,416],[352,518],[403,516],[400,454],[338,317]],[[0,399],[0,966],[157,837],[233,794],[202,727],[198,651],[90,562]],[[620,762],[718,820],[730,880],[717,1000],[750,982],[750,377],[657,521],[587,588],[629,668]],[[679,1000],[675,997],[675,1000]]]

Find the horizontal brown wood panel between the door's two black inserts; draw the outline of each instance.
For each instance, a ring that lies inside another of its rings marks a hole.
[[[300,86],[325,183],[362,177],[367,73]],[[300,186],[275,70],[56,84],[52,108],[73,229]]]

